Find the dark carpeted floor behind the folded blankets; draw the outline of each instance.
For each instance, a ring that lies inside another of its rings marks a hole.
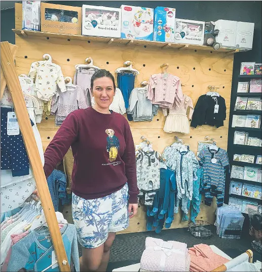
[[[188,229],[165,230],[160,234],[156,234],[155,232],[121,234],[116,236],[115,242],[110,250],[107,271],[140,262],[146,237],[156,237],[165,241],[179,241],[188,244],[188,247],[201,243],[215,245],[232,258],[237,257],[247,249],[252,250],[249,235],[246,235],[246,238],[242,237],[241,239],[221,239],[217,235],[213,235],[210,239],[200,240],[193,237],[188,232]],[[254,261],[261,261],[260,254],[256,253],[254,250],[253,254]]]

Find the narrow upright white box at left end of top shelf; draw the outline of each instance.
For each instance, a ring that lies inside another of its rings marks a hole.
[[[22,29],[40,31],[41,1],[22,1]]]

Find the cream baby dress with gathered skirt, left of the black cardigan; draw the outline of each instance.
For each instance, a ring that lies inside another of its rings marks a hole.
[[[189,119],[194,112],[192,99],[186,95],[183,96],[183,101],[169,109],[169,114],[166,118],[164,131],[165,132],[180,132],[189,133]],[[186,115],[186,111],[189,110],[189,116]],[[167,115],[167,109],[163,109],[164,116]]]

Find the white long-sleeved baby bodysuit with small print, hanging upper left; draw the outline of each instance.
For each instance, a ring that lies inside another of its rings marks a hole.
[[[35,82],[38,98],[49,101],[56,93],[56,86],[66,92],[61,67],[50,61],[36,61],[31,64],[28,76]]]

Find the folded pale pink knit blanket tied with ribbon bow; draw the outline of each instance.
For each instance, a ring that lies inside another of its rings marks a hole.
[[[189,271],[190,255],[187,245],[147,237],[140,267],[141,271]]]

